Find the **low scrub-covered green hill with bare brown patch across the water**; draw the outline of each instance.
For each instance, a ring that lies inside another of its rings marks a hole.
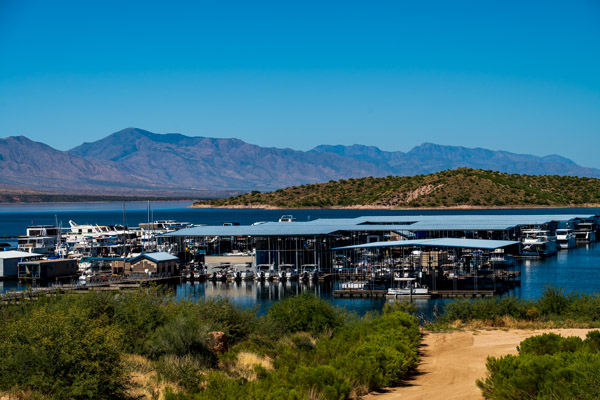
[[[388,176],[302,185],[197,202],[197,207],[437,208],[591,207],[600,179],[519,175],[460,168],[412,177]]]

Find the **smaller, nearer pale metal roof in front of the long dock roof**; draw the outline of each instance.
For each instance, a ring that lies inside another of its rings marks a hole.
[[[332,250],[370,249],[379,247],[460,247],[465,249],[495,250],[502,247],[519,244],[514,240],[484,240],[484,239],[422,239],[422,240],[395,240],[389,242],[373,242],[356,246],[336,247]]]

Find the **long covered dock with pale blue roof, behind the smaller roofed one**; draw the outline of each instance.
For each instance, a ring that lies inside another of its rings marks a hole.
[[[203,256],[249,255],[255,264],[318,264],[332,268],[334,248],[373,242],[439,238],[521,241],[523,232],[579,224],[597,230],[595,215],[427,215],[365,216],[307,222],[263,222],[249,226],[197,226],[160,237]],[[510,247],[511,254],[520,249]]]

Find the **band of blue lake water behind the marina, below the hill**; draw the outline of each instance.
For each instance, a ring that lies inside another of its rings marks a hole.
[[[0,238],[25,234],[28,225],[52,225],[57,221],[63,227],[69,220],[78,224],[94,223],[137,226],[140,222],[174,219],[193,224],[221,225],[223,222],[239,222],[250,225],[258,221],[277,221],[284,214],[292,214],[297,221],[317,218],[355,218],[365,215],[523,215],[523,214],[600,214],[595,208],[552,208],[515,210],[238,210],[187,208],[192,202],[146,202],[123,203],[40,203],[0,204]]]

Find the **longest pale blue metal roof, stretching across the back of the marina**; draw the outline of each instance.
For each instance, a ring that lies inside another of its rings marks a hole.
[[[249,226],[196,226],[163,236],[319,236],[335,232],[489,231],[595,217],[581,214],[366,216],[321,218],[308,222],[265,222]]]

